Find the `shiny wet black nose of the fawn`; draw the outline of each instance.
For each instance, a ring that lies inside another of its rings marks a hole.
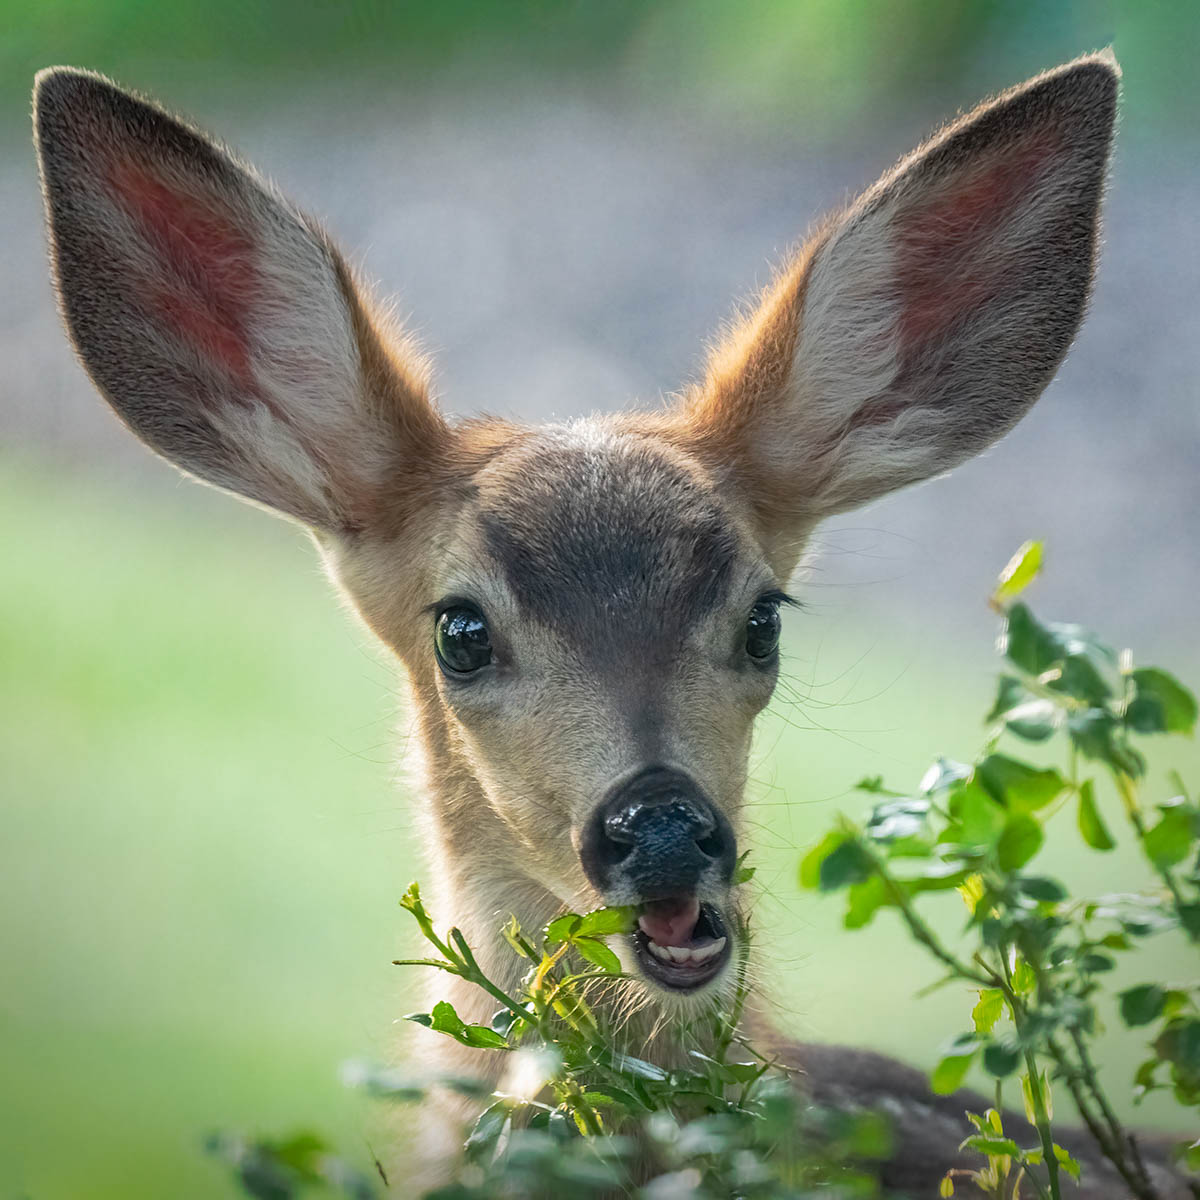
[[[730,822],[683,772],[648,767],[614,787],[583,829],[580,858],[602,894],[662,900],[701,876],[728,883],[737,842]]]

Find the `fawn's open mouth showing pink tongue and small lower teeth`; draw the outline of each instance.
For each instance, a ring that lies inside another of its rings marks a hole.
[[[695,991],[710,983],[732,950],[720,912],[696,896],[641,905],[632,942],[646,974],[673,991]]]

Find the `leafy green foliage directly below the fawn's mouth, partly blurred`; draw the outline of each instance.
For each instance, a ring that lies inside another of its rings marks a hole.
[[[740,1033],[745,928],[732,1001],[713,1003],[680,1031],[685,1044],[708,1049],[694,1049],[686,1068],[667,1070],[620,1049],[588,995],[589,985],[620,978],[620,960],[604,938],[632,929],[631,908],[564,913],[540,937],[510,918],[504,938],[527,972],[520,991],[509,994],[482,971],[460,930],[439,936],[415,883],[401,906],[434,954],[398,964],[457,976],[499,1006],[490,1025],[464,1021],[446,1001],[407,1019],[506,1056],[494,1090],[479,1079],[414,1080],[361,1064],[347,1070],[348,1082],[378,1099],[414,1103],[439,1086],[481,1104],[457,1177],[427,1200],[557,1200],[566,1193],[587,1200],[614,1190],[641,1200],[791,1200],[830,1188],[847,1198],[876,1194],[869,1164],[888,1151],[882,1120],[802,1103],[790,1072]],[[259,1200],[292,1200],[310,1188],[353,1200],[377,1194],[308,1135],[283,1142],[218,1138],[210,1148]]]

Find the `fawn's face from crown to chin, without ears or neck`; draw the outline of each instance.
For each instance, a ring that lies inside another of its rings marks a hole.
[[[638,906],[636,968],[697,991],[732,953],[751,725],[779,667],[786,598],[752,522],[695,455],[616,421],[510,432],[460,493],[420,594],[377,628],[522,870],[565,904]],[[361,589],[379,572],[352,559]]]

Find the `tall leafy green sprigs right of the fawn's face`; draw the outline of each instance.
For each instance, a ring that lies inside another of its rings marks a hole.
[[[887,797],[862,824],[840,818],[800,864],[800,882],[846,893],[845,925],[859,929],[882,908],[899,912],[908,932],[948,978],[976,995],[972,1028],[950,1039],[930,1082],[948,1094],[978,1061],[996,1081],[1019,1076],[1038,1144],[1022,1147],[1006,1133],[998,1110],[971,1114],[976,1133],[964,1146],[986,1166],[954,1171],[952,1195],[966,1176],[988,1195],[1016,1195],[1027,1180],[1039,1195],[1060,1195],[1063,1174],[1079,1164],[1054,1141],[1051,1086],[1070,1092],[1098,1150],[1130,1192],[1156,1195],[1136,1141],[1114,1114],[1097,1075],[1092,1045],[1115,1007],[1129,1027],[1146,1028],[1148,1057],[1134,1094],[1170,1088],[1176,1102],[1200,1106],[1200,980],[1150,982],[1112,997],[1104,977],[1116,956],[1133,956],[1165,930],[1200,941],[1200,806],[1174,776],[1168,798],[1142,799],[1146,760],[1135,738],[1182,733],[1196,725],[1193,695],[1157,667],[1134,667],[1079,625],[1043,622],[1020,599],[1042,564],[1042,546],[1027,542],[1004,569],[991,602],[1003,619],[1001,649],[1008,670],[988,713],[989,736],[972,764],[938,760],[914,796],[882,780],[862,788]],[[1064,743],[1066,767],[1026,762],[1002,752],[1006,739]],[[1114,809],[1129,826],[1159,886],[1138,894],[1076,898],[1058,880],[1031,871],[1054,818],[1074,808],[1085,845],[1116,846],[1114,820],[1099,794],[1102,770]],[[967,906],[966,949],[944,944],[917,910],[917,896],[956,892]],[[1190,964],[1195,968],[1195,962]],[[1112,1004],[1114,998],[1116,1006]],[[1196,1146],[1182,1153],[1196,1157]]]

